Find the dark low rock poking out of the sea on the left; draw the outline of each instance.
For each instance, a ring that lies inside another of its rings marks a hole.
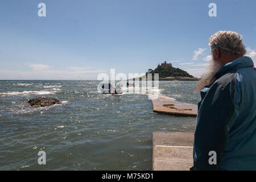
[[[45,106],[50,106],[53,104],[61,104],[59,100],[56,98],[50,98],[50,97],[37,97],[37,98],[32,98],[31,100],[28,101],[28,104],[31,106],[36,106],[36,107],[45,107]]]

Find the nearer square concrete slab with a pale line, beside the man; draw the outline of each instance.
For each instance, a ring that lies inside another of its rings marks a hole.
[[[152,169],[187,171],[193,166],[193,133],[154,132]]]

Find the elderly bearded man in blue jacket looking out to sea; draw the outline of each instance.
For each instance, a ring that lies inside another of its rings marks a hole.
[[[191,170],[256,170],[256,71],[236,32],[209,39],[209,71],[201,77]]]

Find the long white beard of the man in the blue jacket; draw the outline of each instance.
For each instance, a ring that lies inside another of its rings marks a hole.
[[[220,68],[221,65],[216,60],[210,60],[208,71],[204,73],[200,80],[197,82],[195,92],[200,93],[205,85],[209,84],[210,80],[212,80],[213,76],[218,72]]]

